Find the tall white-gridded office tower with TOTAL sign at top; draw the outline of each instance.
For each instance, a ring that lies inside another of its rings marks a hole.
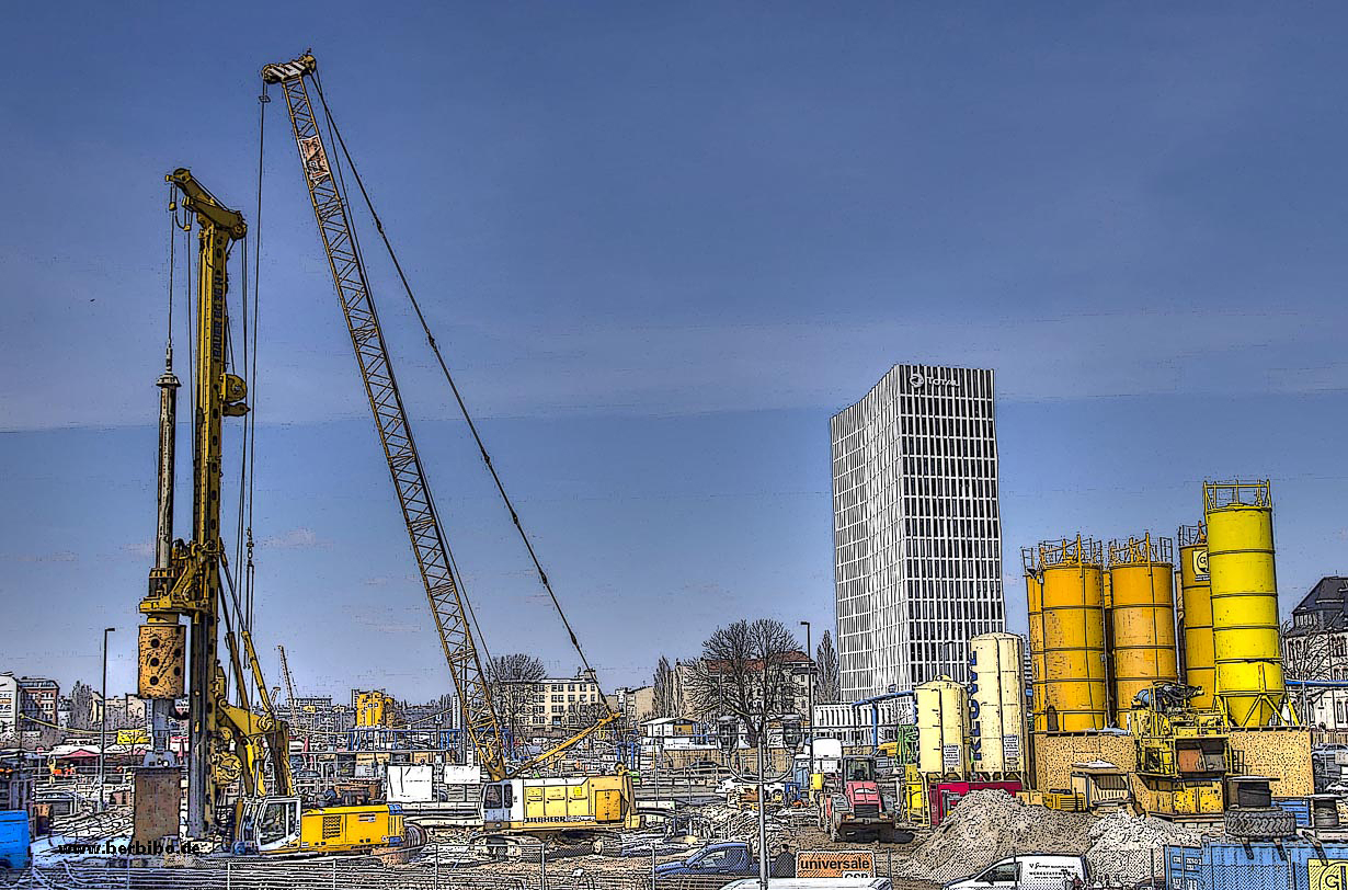
[[[1006,630],[992,371],[895,365],[833,417],[842,697],[948,674]]]

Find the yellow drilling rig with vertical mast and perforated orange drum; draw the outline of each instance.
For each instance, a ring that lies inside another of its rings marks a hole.
[[[290,738],[276,716],[262,674],[252,632],[229,576],[220,537],[224,418],[248,411],[248,387],[228,369],[229,248],[247,225],[210,194],[190,170],[166,177],[198,229],[193,417],[193,527],[190,541],[174,541],[174,432],[178,379],[173,348],[159,378],[159,519],[150,591],[140,601],[146,623],[137,636],[136,690],[151,703],[151,754],[147,762],[175,765],[168,727],[174,703],[187,681],[187,836],[224,835],[236,851],[348,852],[404,840],[403,817],[388,806],[309,809],[295,796],[290,774]],[[175,206],[173,209],[177,209]],[[228,591],[226,585],[228,583]],[[179,619],[187,619],[187,624]],[[218,654],[218,628],[237,701],[231,701]],[[191,628],[190,647],[187,628]],[[186,663],[185,663],[186,662]],[[186,668],[186,670],[185,670]],[[249,680],[259,709],[249,704]],[[288,676],[287,676],[288,681]],[[174,777],[174,786],[178,779]],[[239,789],[236,800],[228,798]],[[152,798],[151,798],[152,800]],[[233,802],[233,808],[229,804]],[[137,810],[137,819],[140,812]]]

